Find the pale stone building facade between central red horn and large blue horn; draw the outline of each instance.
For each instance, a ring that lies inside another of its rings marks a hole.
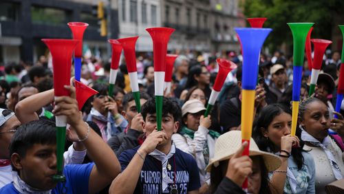
[[[234,27],[244,26],[238,0],[163,0],[162,25],[175,28],[169,50],[239,52]]]

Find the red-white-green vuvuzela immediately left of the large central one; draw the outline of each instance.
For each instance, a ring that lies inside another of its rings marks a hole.
[[[135,54],[135,45],[138,40],[138,36],[133,36],[124,39],[117,39],[118,42],[123,47],[125,52],[125,61],[127,62],[127,69],[130,80],[131,92],[133,92],[133,98],[135,100],[136,109],[138,113],[141,112],[140,104],[140,91],[138,89],[138,70],[136,67],[136,54]]]

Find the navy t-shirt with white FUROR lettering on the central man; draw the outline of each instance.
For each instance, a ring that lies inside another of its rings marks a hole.
[[[119,161],[122,171],[127,168],[139,148],[128,149],[120,154]],[[171,180],[175,180],[178,193],[186,194],[188,191],[194,191],[200,188],[200,175],[198,174],[197,164],[192,155],[176,148],[175,154],[169,158],[168,164],[167,174]],[[162,163],[151,155],[147,155],[134,193],[170,193],[173,184],[169,184],[165,192],[162,191]]]

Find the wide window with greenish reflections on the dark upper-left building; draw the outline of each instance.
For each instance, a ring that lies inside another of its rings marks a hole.
[[[31,19],[35,24],[65,25],[71,21],[70,15],[66,10],[31,6]]]

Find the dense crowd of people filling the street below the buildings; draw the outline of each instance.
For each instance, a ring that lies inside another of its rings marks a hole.
[[[241,55],[176,54],[161,131],[152,54],[138,54],[136,60],[140,112],[124,57],[113,94],[108,93],[111,63],[83,58],[80,81],[98,94],[81,111],[73,85],[65,86],[70,96],[55,98],[50,58],[0,68],[0,193],[344,192],[344,103],[343,112],[334,111],[339,52],[326,52],[312,96],[305,60],[296,136],[290,134],[292,56],[261,54],[249,155],[242,155],[248,144],[241,143],[240,132]],[[218,57],[237,69],[204,117]],[[55,116],[61,115],[68,124],[65,180],[55,182]]]

